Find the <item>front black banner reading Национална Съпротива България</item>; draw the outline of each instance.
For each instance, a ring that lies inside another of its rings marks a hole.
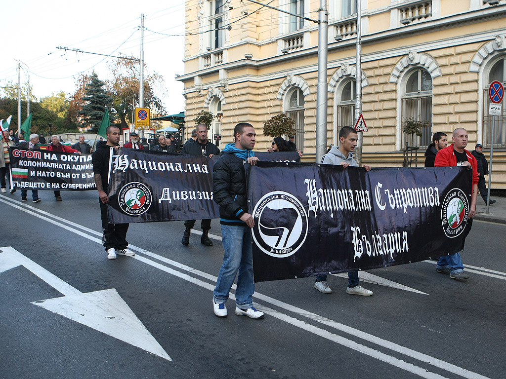
[[[256,282],[416,262],[463,244],[465,168],[259,162],[247,181]]]

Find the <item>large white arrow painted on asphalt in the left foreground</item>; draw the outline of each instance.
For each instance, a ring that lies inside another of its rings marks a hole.
[[[0,273],[24,266],[64,295],[32,304],[172,361],[115,289],[83,294],[12,247],[0,251]]]

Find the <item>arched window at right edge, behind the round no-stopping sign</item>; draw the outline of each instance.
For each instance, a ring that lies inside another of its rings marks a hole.
[[[486,77],[485,88],[483,89],[483,146],[490,148],[493,141],[494,148],[505,148],[506,147],[506,110],[504,106],[504,100],[502,101],[501,115],[490,116],[489,105],[492,104],[488,96],[488,89],[490,84],[494,81],[500,81],[504,86],[506,84],[506,57],[494,61],[490,67],[490,71]],[[494,122],[495,120],[495,122]],[[493,134],[492,134],[492,123],[493,123]]]

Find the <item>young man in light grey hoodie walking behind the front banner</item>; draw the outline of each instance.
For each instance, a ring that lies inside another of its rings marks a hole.
[[[339,148],[332,146],[330,151],[325,154],[321,160],[322,164],[341,165],[344,168],[349,166],[358,167],[357,162],[353,158],[353,151],[357,146],[358,133],[351,126],[344,126],[339,132]],[[364,165],[366,171],[371,166]],[[315,281],[315,289],[323,294],[330,294],[332,290],[327,284],[327,275],[318,275]],[[358,271],[348,272],[348,287],[346,293],[350,295],[371,296],[372,291],[366,290],[360,286],[358,280]]]

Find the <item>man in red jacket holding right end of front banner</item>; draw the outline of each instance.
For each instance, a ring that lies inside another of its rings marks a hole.
[[[471,207],[469,210],[468,221],[462,239],[460,251],[463,251],[466,236],[473,226],[473,217],[476,216],[476,198],[478,195],[478,162],[476,158],[465,148],[468,145],[468,132],[464,128],[456,128],[451,137],[453,144],[447,148],[441,149],[436,155],[435,167],[463,166],[472,169],[473,181],[471,184]],[[460,253],[448,254],[439,258],[436,268],[437,272],[450,275],[452,279],[467,279],[469,275],[463,272],[464,265],[460,258]]]

